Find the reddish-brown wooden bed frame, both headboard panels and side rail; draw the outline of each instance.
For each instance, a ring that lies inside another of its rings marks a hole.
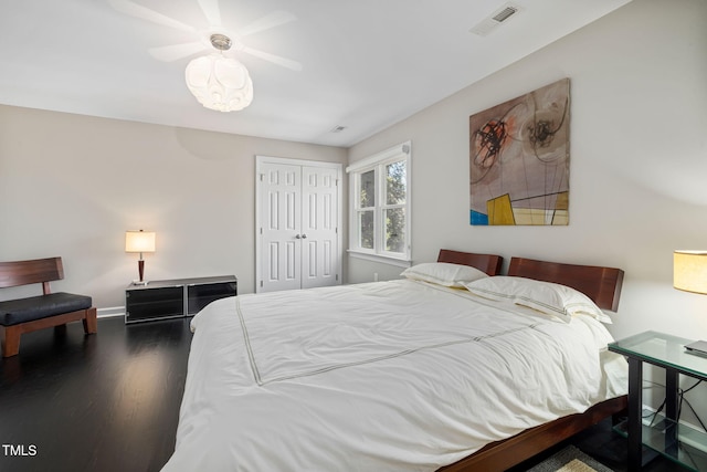
[[[489,275],[500,272],[503,258],[492,254],[472,254],[441,250],[437,262],[472,265]],[[603,310],[616,311],[623,283],[623,271],[593,265],[561,264],[511,258],[508,275],[536,279],[571,286],[584,293]],[[626,396],[594,405],[583,413],[570,415],[555,421],[525,430],[513,438],[492,442],[451,465],[444,472],[500,472],[536,455],[564,439],[593,426],[603,419],[616,417],[626,410]]]

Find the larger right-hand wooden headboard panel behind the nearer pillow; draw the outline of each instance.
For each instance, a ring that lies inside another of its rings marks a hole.
[[[511,258],[508,275],[571,286],[589,296],[600,308],[612,312],[619,308],[623,284],[621,269]]]

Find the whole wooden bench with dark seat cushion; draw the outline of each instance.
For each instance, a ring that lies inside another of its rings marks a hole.
[[[84,333],[97,333],[96,308],[92,298],[72,293],[52,293],[50,282],[64,279],[62,258],[0,262],[0,289],[42,284],[42,295],[0,302],[2,357],[17,356],[20,336],[48,327],[83,321]]]

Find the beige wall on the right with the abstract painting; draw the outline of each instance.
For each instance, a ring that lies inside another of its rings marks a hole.
[[[672,289],[672,252],[707,249],[707,2],[635,0],[350,149],[412,140],[415,262],[440,248],[613,265],[611,331],[707,338],[707,296]],[[489,41],[493,38],[489,36]],[[570,224],[468,223],[468,116],[571,80]],[[349,282],[398,268],[351,259]]]

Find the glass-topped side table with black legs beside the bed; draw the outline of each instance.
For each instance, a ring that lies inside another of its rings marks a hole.
[[[646,332],[609,345],[609,350],[629,359],[629,419],[623,427],[629,439],[629,471],[641,470],[644,444],[690,470],[707,471],[707,452],[694,447],[707,447],[707,433],[677,422],[679,375],[707,380],[707,357],[686,352],[690,343],[693,339]],[[651,426],[643,424],[643,363],[665,369],[665,420]]]

